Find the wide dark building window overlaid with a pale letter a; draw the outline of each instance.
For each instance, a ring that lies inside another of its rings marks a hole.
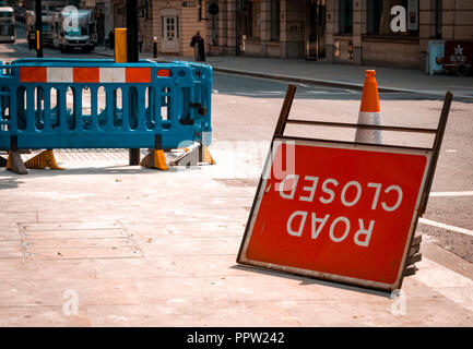
[[[395,5],[405,9],[405,32],[391,31],[391,9]],[[366,20],[367,34],[418,36],[418,0],[368,0]]]

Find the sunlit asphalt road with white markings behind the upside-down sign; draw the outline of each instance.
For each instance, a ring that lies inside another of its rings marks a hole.
[[[24,29],[19,29],[14,45],[0,44],[0,60],[35,57],[27,48]],[[99,48],[98,48],[99,50]],[[45,48],[45,57],[97,58],[96,55],[67,53]],[[274,130],[287,82],[215,73],[213,85],[213,136],[220,142],[269,142]],[[360,92],[297,84],[291,117],[356,122]],[[382,122],[393,125],[435,128],[441,100],[419,94],[380,94]],[[456,100],[437,165],[427,212],[418,226],[424,239],[460,257],[473,262],[473,104]],[[293,132],[309,132],[293,130]],[[310,133],[311,132],[311,133]],[[327,131],[310,135],[341,139],[351,136]],[[418,143],[431,140],[413,135],[388,136],[387,140]],[[421,144],[422,143],[422,144]],[[258,164],[257,164],[258,165]]]

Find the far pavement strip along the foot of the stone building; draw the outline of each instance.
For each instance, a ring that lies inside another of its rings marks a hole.
[[[93,53],[114,57],[113,50],[103,47],[97,47]],[[158,55],[153,58],[151,52],[140,53],[140,58],[157,61],[194,60],[193,57],[170,55]],[[451,91],[454,97],[473,101],[473,75],[466,77],[447,74],[428,75],[414,69],[233,56],[206,57],[205,63],[212,65],[216,72],[355,89],[363,88],[365,70],[374,69],[379,92],[407,92],[444,97],[447,91]]]

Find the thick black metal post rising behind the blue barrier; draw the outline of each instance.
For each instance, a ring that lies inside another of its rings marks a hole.
[[[137,0],[127,0],[127,60],[128,62],[139,61],[138,48],[138,13]],[[130,96],[131,110],[135,110],[137,96]],[[140,149],[129,149],[129,164],[140,165]]]

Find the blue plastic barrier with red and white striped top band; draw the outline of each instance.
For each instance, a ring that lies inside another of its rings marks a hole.
[[[209,146],[211,97],[205,64],[20,59],[0,65],[0,149]]]

